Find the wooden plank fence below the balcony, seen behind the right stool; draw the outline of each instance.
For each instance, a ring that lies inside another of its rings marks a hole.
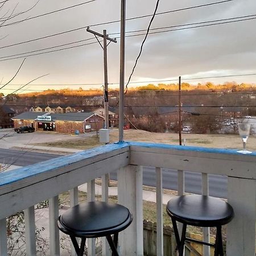
[[[187,233],[187,237],[195,238],[197,240],[203,240],[201,234]],[[210,242],[214,243],[215,239],[210,237]],[[156,223],[151,221],[143,221],[143,246],[144,256],[156,256]],[[164,256],[176,256],[176,241],[174,236],[174,230],[171,226],[164,225],[163,228],[163,255]],[[185,247],[185,256],[202,256],[203,245],[198,243],[187,243]],[[211,247],[210,255],[214,255],[214,249]]]

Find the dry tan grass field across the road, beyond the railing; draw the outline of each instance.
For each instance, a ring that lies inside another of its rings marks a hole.
[[[164,144],[178,144],[179,134],[173,133],[150,133],[142,130],[125,130],[125,141],[140,141],[140,142],[153,142]],[[212,148],[242,148],[242,140],[239,135],[229,134],[182,134],[182,139],[185,139],[187,146],[201,146]],[[110,143],[118,141],[118,130],[110,130]],[[96,135],[90,137],[79,135],[76,139],[72,138],[67,141],[58,142],[44,142],[36,143],[39,146],[48,147],[63,147],[63,148],[76,148],[86,150],[101,146],[103,143],[99,142],[99,138]],[[256,151],[256,136],[250,135],[246,143],[248,150]]]

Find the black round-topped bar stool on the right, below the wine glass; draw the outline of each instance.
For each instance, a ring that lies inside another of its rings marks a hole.
[[[221,226],[228,224],[234,217],[234,210],[230,204],[215,197],[186,195],[177,196],[168,201],[166,210],[171,217],[172,226],[174,227],[179,256],[183,256],[185,241],[213,246],[214,256],[223,256]],[[181,238],[179,236],[176,221],[183,224]],[[187,225],[216,227],[217,233],[215,244],[186,237]]]

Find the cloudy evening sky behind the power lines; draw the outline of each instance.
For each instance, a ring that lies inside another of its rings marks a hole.
[[[157,13],[205,5],[207,3],[219,1],[221,0],[160,0]],[[8,20],[3,25],[84,2],[86,1],[40,0],[32,10],[23,15],[16,16],[14,19]],[[9,0],[2,7],[0,17],[10,15],[15,6],[14,14],[29,9],[35,3],[36,1],[34,0],[20,2],[16,0]],[[77,42],[79,40],[90,39],[93,38],[93,35],[86,32],[86,29],[84,28],[58,36],[36,40],[30,43],[19,44],[18,46],[5,47],[10,44],[41,38],[43,36],[85,26],[90,26],[90,29],[100,33],[102,33],[102,30],[106,29],[111,37],[118,38],[119,34],[111,34],[118,33],[120,31],[119,22],[104,24],[101,26],[93,25],[119,20],[120,4],[120,0],[96,0],[58,13],[26,20],[10,26],[0,27],[0,38],[6,36],[0,40],[0,81],[2,78],[2,84],[9,81],[24,59],[19,58],[2,61],[17,57],[5,56],[17,55],[18,53],[26,53],[38,49],[59,46],[61,44]],[[126,18],[129,19],[143,15],[150,15],[154,13],[155,5],[156,0],[126,0]],[[7,13],[7,11],[9,12]],[[247,15],[255,15],[250,16],[249,18],[256,18],[255,0],[233,0],[225,3],[219,3],[217,5],[159,14],[155,16],[151,28],[178,26]],[[150,18],[151,17],[127,20],[126,31],[146,30]],[[158,34],[148,35],[131,82],[172,80],[176,79],[178,76],[190,78],[256,73],[255,24],[256,19],[251,19],[244,20],[242,22],[160,32]],[[171,28],[165,28],[154,31],[170,29]],[[172,28],[172,30],[173,29],[174,28]],[[127,33],[127,35],[143,33],[144,32]],[[126,38],[126,80],[133,68],[134,61],[139,53],[139,48],[143,38],[144,35]],[[118,83],[119,81],[120,45],[119,39],[117,40],[117,44],[110,43],[108,46],[109,84]],[[103,51],[95,38],[80,43],[69,44],[68,46],[48,49],[47,51],[79,46],[81,44],[88,45],[66,49],[64,51],[28,56],[15,79],[10,85],[3,88],[9,89],[9,91],[2,89],[1,92],[5,94],[7,92],[11,92],[11,90],[19,88],[19,85],[26,84],[28,81],[47,73],[49,73],[48,76],[33,82],[24,89],[27,89],[27,91],[65,87],[100,89],[101,84],[104,82]],[[28,54],[33,53],[27,53],[24,55]],[[256,82],[256,76],[205,80],[199,79],[192,80],[191,82],[205,81]],[[36,84],[40,84],[40,86]],[[53,86],[54,84],[64,85]],[[68,84],[92,85],[76,86]],[[132,83],[130,86],[142,84],[143,83]],[[116,88],[118,85],[110,86]],[[22,92],[26,91],[22,90]]]

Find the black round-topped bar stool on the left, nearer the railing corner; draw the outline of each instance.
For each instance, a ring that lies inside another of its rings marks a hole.
[[[86,238],[106,237],[113,256],[118,256],[118,233],[133,221],[129,209],[101,201],[78,204],[59,216],[59,229],[71,237],[77,255],[84,254]],[[112,239],[113,235],[113,239]],[[79,247],[76,237],[81,238]]]

